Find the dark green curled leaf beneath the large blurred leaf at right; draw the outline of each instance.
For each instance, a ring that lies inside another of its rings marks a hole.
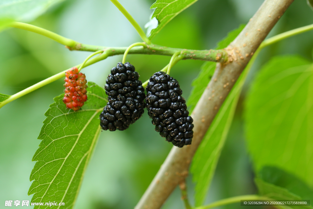
[[[300,196],[302,200],[313,200],[313,190],[305,182],[277,167],[263,167],[258,177],[267,183],[287,189]]]

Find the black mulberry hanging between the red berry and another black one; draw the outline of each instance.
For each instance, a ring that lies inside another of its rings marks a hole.
[[[129,62],[119,62],[106,79],[108,103],[100,114],[102,129],[123,131],[141,117],[145,108],[145,93],[138,72]]]

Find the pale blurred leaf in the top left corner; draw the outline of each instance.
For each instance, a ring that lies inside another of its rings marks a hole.
[[[12,21],[30,21],[64,0],[2,0],[0,1],[0,30]]]

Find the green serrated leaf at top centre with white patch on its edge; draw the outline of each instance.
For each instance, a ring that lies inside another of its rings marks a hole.
[[[196,1],[198,0],[156,0],[150,8],[155,9],[151,16],[151,21],[146,24],[149,39],[151,40],[177,14],[190,7]]]

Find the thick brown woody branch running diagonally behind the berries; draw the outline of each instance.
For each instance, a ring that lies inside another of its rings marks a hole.
[[[228,63],[217,63],[208,87],[197,103],[192,118],[192,145],[173,147],[135,209],[159,209],[176,186],[188,175],[188,169],[204,134],[248,64],[251,56],[294,0],[265,0],[237,38],[226,48]],[[208,98],[211,99],[208,99]]]

